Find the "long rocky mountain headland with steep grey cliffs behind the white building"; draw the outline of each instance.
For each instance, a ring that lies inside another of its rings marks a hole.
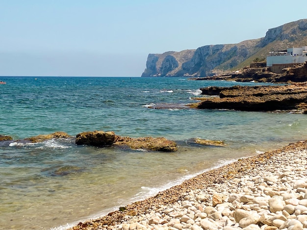
[[[307,19],[286,23],[266,32],[265,37],[238,44],[201,46],[179,52],[149,54],[142,77],[205,77],[241,69],[273,49],[307,46]]]

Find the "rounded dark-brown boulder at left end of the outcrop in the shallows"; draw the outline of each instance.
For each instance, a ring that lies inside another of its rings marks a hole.
[[[114,143],[115,134],[114,132],[104,132],[104,131],[93,131],[93,132],[83,132],[76,136],[77,145],[93,145],[93,146],[106,146]]]

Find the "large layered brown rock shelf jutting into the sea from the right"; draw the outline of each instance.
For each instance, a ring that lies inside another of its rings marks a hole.
[[[209,89],[204,90],[206,91],[212,92]],[[234,86],[221,89],[218,95],[219,97],[196,98],[201,102],[190,106],[198,109],[241,111],[307,111],[307,83],[286,86]]]

